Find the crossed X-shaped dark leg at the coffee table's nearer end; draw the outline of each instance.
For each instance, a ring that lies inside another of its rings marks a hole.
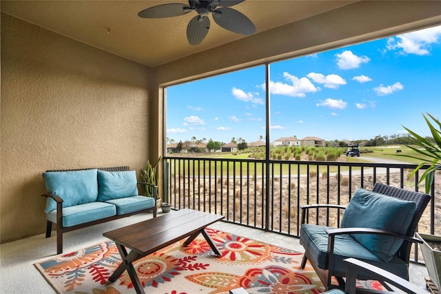
[[[132,284],[136,290],[136,293],[144,294],[145,292],[144,292],[143,286],[142,286],[141,282],[139,281],[139,277],[138,277],[138,275],[136,275],[135,268],[132,264],[132,262],[141,258],[142,255],[139,255],[135,251],[130,251],[130,253],[127,254],[127,251],[125,250],[125,247],[123,245],[118,244],[118,243],[115,243],[115,244],[116,244],[116,247],[118,248],[119,254],[121,255],[121,259],[123,259],[123,261],[118,266],[118,268],[116,268],[114,273],[112,273],[112,275],[109,278],[109,282],[112,282],[112,283],[115,282],[123,274],[123,272],[127,269],[127,273],[130,276],[130,280],[132,280]]]

